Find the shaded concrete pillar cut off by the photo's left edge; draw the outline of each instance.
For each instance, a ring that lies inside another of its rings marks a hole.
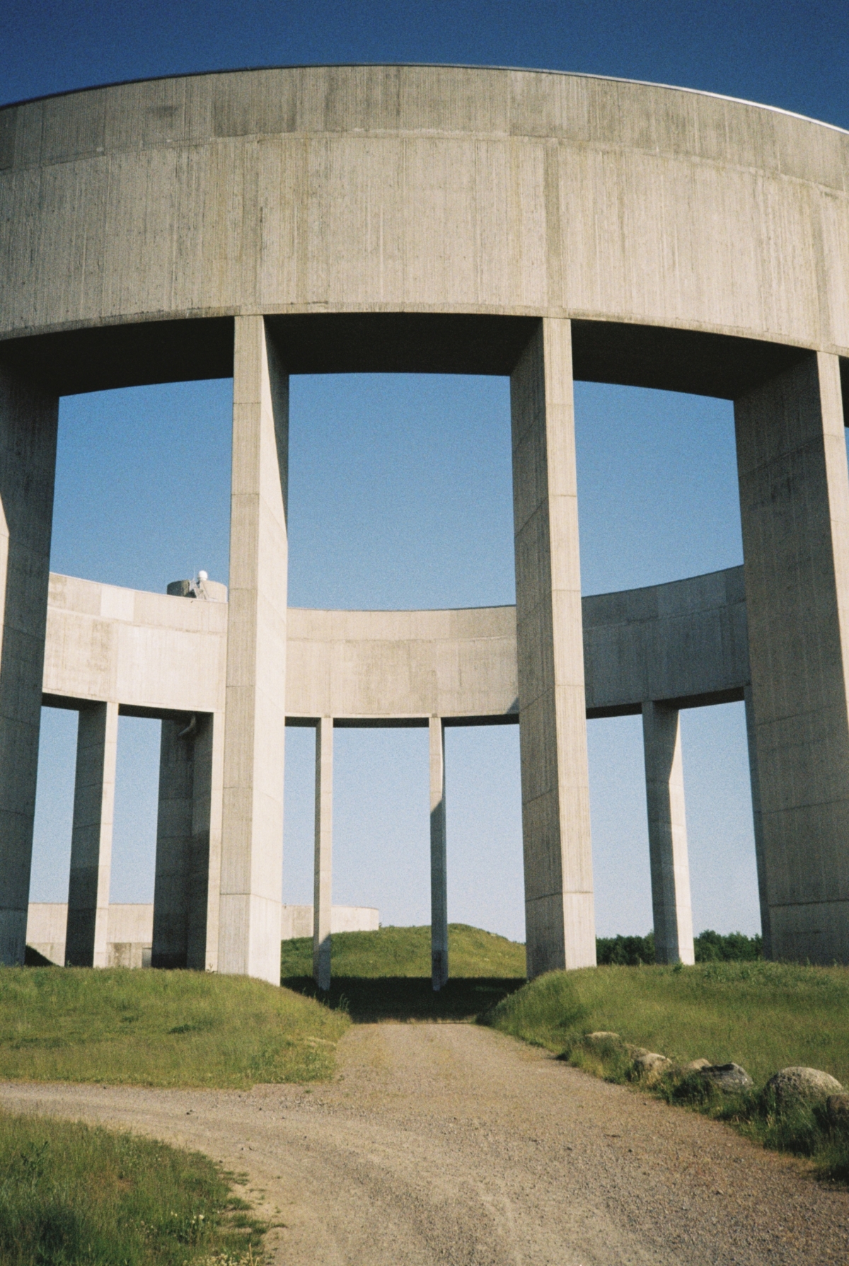
[[[24,961],[58,398],[0,363],[0,963]]]

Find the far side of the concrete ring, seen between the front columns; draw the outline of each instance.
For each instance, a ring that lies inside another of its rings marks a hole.
[[[741,699],[743,568],[583,599],[588,717],[644,700]],[[228,604],[51,575],[44,703],[111,700],[124,715],[224,706]],[[290,608],[286,714],[313,724],[517,720],[514,606],[434,611]]]

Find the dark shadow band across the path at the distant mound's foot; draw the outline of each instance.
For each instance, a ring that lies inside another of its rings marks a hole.
[[[328,1006],[342,1006],[352,1020],[474,1020],[521,989],[524,980],[488,976],[452,979],[434,993],[424,976],[335,976],[328,993],[316,989],[310,976],[283,976],[281,985]]]

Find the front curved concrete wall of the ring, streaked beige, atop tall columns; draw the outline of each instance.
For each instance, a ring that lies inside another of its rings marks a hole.
[[[0,333],[569,315],[849,353],[849,138],[579,75],[301,67],[0,111]]]

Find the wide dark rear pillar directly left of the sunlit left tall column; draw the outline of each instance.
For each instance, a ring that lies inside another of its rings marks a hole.
[[[214,732],[214,718],[209,713],[162,722],[153,967],[204,971],[210,966],[206,922]],[[218,851],[220,853],[220,841]]]

